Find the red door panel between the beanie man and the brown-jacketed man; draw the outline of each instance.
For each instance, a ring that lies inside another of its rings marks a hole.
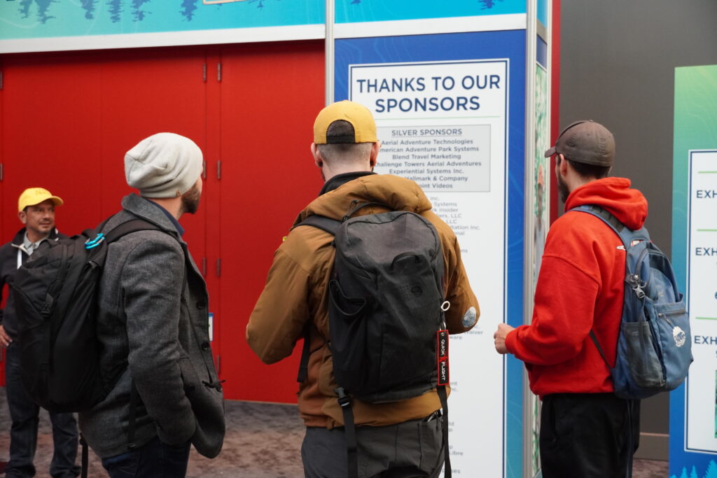
[[[296,400],[300,346],[267,366],[244,337],[282,236],[322,185],[309,146],[323,107],[323,62],[323,42],[222,49],[220,293],[228,396]]]

